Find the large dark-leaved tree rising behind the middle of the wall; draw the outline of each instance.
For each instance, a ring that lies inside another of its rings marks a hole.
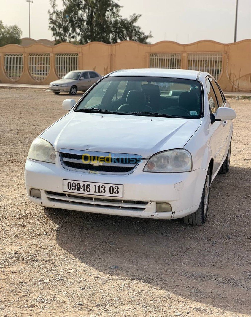
[[[151,32],[146,35],[135,25],[141,17],[133,14],[122,18],[122,6],[114,0],[63,0],[63,9],[58,10],[56,0],[50,0],[49,29],[55,37],[55,44],[75,42],[86,44],[98,41],[107,44],[119,41],[149,43]]]

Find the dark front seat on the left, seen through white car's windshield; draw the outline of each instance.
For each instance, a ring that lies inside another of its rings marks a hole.
[[[126,97],[126,104],[118,108],[121,112],[144,112],[152,111],[146,106],[146,96],[142,91],[130,90]]]

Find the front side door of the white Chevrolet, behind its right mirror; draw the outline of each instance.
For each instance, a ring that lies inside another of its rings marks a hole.
[[[209,110],[210,113],[215,113],[219,107],[219,103],[211,84],[212,78],[208,77],[206,80],[207,93],[208,93],[208,102],[209,102]],[[221,103],[220,103],[221,105]],[[226,140],[227,140],[227,131],[225,129],[225,121],[215,121],[212,124],[212,128],[214,129],[214,133],[211,139],[211,146],[214,150],[214,171],[216,171],[220,166],[224,156],[224,149],[226,148]]]

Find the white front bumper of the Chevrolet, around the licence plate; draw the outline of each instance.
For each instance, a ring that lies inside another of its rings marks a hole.
[[[182,218],[199,207],[207,171],[197,169],[184,173],[142,172],[142,160],[129,175],[83,173],[56,164],[27,159],[25,186],[28,198],[35,204],[68,210],[157,219]],[[123,198],[69,194],[63,192],[63,179],[108,184],[123,184]],[[30,196],[30,189],[41,190],[41,198]],[[156,202],[168,202],[172,211],[156,212]]]

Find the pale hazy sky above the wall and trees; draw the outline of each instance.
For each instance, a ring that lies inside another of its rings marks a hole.
[[[199,40],[234,42],[236,0],[116,0],[123,6],[123,17],[142,14],[138,21],[145,33],[152,32],[151,43],[169,40],[182,44]],[[57,0],[62,8],[62,0]],[[49,0],[30,3],[31,38],[53,40],[48,29]],[[29,3],[0,0],[0,20],[17,24],[29,37]],[[237,41],[251,38],[251,1],[239,0]]]

